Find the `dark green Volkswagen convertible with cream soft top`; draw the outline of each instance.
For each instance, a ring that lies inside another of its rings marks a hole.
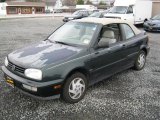
[[[76,103],[88,86],[128,68],[143,69],[148,41],[145,32],[126,21],[84,18],[10,53],[2,70],[6,82],[25,94]]]

